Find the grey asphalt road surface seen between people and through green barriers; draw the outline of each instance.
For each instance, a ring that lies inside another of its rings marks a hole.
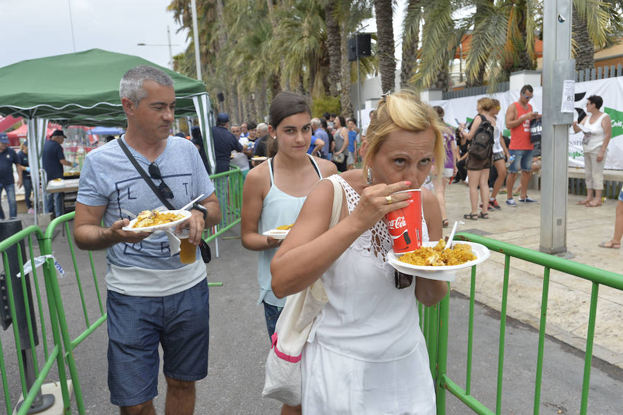
[[[264,362],[270,343],[258,299],[257,261],[255,252],[240,245],[240,228],[235,227],[219,238],[219,258],[208,265],[208,281],[222,282],[222,287],[210,288],[210,356],[208,377],[197,382],[196,414],[278,414],[280,403],[262,398]],[[71,337],[84,330],[85,322],[80,304],[78,284],[71,265],[66,235],[56,234],[55,256],[66,269],[60,279],[64,308]],[[88,256],[76,251],[78,271],[89,306],[89,319],[98,315],[94,281]],[[105,301],[105,256],[93,254],[96,261],[97,283]],[[469,302],[462,294],[451,295],[449,321],[449,376],[465,387],[467,351],[467,310]],[[44,303],[44,310],[47,306]],[[495,310],[476,304],[472,369],[472,395],[495,411],[496,375],[500,316]],[[49,331],[48,331],[49,333]],[[502,414],[532,413],[536,345],[538,333],[534,328],[514,319],[507,320],[505,339]],[[12,330],[1,333],[3,350],[9,371],[12,401],[19,395],[15,381],[17,365],[12,354]],[[50,335],[48,334],[48,337]],[[10,351],[10,353],[8,352]],[[82,342],[75,350],[80,385],[88,414],[117,414],[109,403],[107,390],[107,333],[105,324]],[[37,355],[43,359],[42,346]],[[584,370],[583,353],[557,339],[545,341],[545,365],[541,390],[541,414],[579,414],[581,377]],[[49,376],[57,379],[57,373]],[[589,414],[620,414],[623,407],[623,370],[600,360],[593,360],[589,395]],[[160,395],[155,399],[156,412],[163,414],[165,380],[160,376]],[[470,414],[457,398],[446,393],[446,414]],[[3,398],[2,398],[3,399]],[[4,405],[4,403],[1,403]],[[75,408],[75,407],[74,407]]]

